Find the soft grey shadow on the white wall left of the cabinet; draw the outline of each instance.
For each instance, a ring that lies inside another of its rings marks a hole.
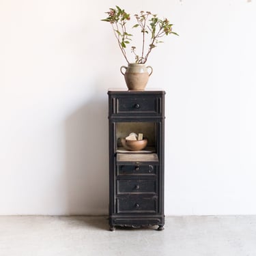
[[[108,104],[91,97],[66,119],[69,214],[106,215],[109,204]]]

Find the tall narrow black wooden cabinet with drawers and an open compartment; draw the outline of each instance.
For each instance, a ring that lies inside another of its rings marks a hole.
[[[109,94],[109,228],[164,229],[165,91]],[[128,151],[120,140],[143,133],[147,147]]]

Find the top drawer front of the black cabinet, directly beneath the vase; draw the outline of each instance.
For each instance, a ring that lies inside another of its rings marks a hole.
[[[160,98],[137,97],[137,98],[117,98],[117,113],[160,113]]]

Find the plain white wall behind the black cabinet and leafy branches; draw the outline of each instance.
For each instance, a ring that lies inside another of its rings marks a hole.
[[[0,214],[106,214],[109,7],[168,17],[165,213],[256,214],[255,0],[0,0]]]

